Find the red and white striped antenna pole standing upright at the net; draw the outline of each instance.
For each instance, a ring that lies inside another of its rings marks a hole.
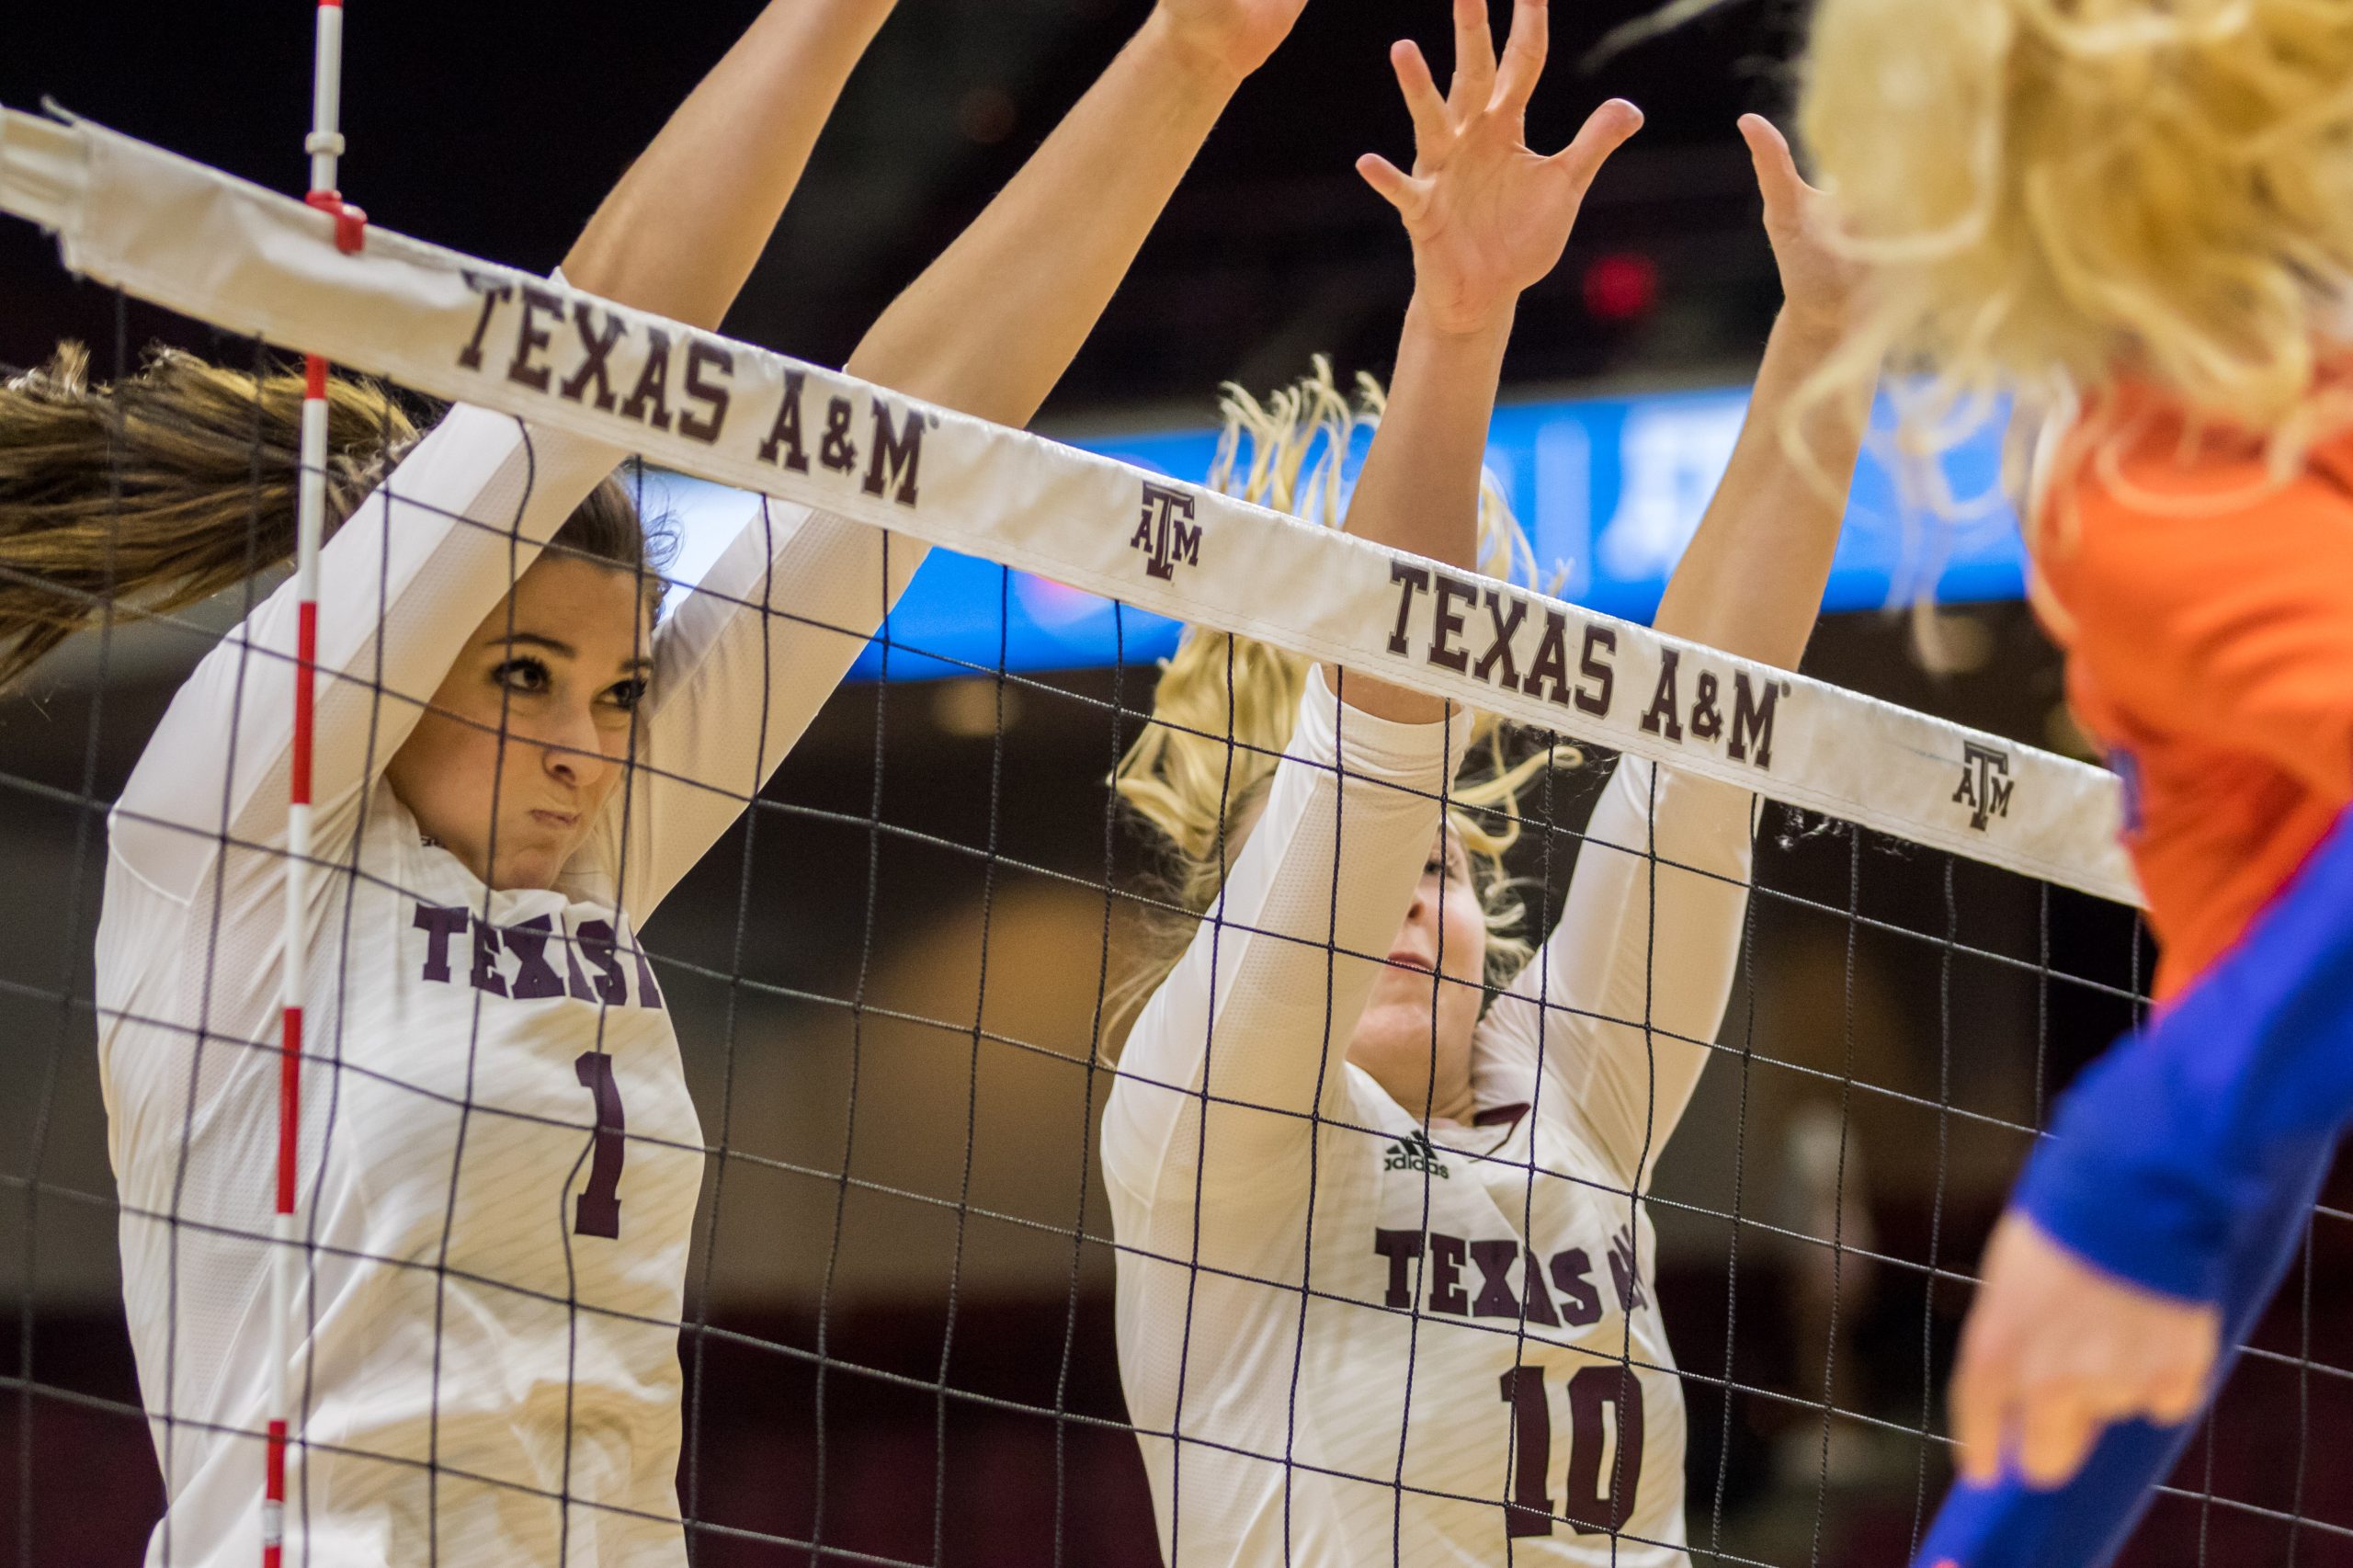
[[[336,191],[336,160],[344,134],[344,0],[318,0],[318,45],[311,66],[311,153],[313,207],[334,217],[339,250],[360,250],[367,214],[344,202]],[[282,1012],[278,1036],[278,1215],[271,1248],[271,1406],[268,1406],[268,1479],[261,1490],[261,1568],[280,1568],[285,1559],[287,1516],[287,1443],[292,1431],[289,1328],[294,1321],[296,1267],[301,1236],[294,1229],[294,1189],[301,1151],[301,1001],[308,984],[311,906],[311,709],[318,685],[318,544],[327,532],[327,360],[304,358],[306,396],[301,405],[301,478],[294,516],[294,756],[287,784],[287,939],[282,970]]]

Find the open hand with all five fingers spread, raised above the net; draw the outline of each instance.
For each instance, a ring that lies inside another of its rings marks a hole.
[[[1560,266],[1593,177],[1642,129],[1642,111],[1609,99],[1560,153],[1529,151],[1527,101],[1544,75],[1546,24],[1544,0],[1518,0],[1497,61],[1487,2],[1454,0],[1454,82],[1442,97],[1419,47],[1407,40],[1388,52],[1414,115],[1414,172],[1377,153],[1355,167],[1405,219],[1417,306],[1442,332],[1489,325]]]

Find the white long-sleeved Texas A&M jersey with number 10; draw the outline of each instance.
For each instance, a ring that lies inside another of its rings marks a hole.
[[[1478,1125],[1424,1128],[1346,1048],[1464,737],[1308,680],[1120,1057],[1120,1370],[1172,1566],[1685,1561],[1638,1194],[1722,1022],[1753,798],[1621,760],[1478,1024]]]

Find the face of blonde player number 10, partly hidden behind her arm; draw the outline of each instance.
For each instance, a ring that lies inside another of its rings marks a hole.
[[[1417,1118],[1471,1121],[1471,1034],[1487,975],[1487,911],[1461,838],[1440,829],[1348,1041],[1348,1059]]]

